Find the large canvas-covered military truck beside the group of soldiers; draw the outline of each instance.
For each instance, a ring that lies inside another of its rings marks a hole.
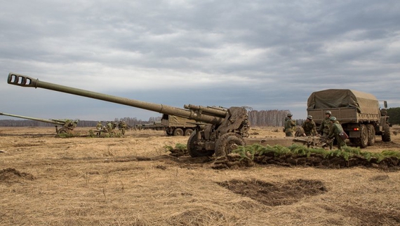
[[[375,136],[390,141],[387,102],[380,108],[380,101],[373,94],[346,89],[329,89],[313,92],[307,100],[307,115],[312,115],[317,127],[331,111],[349,136],[349,141],[360,148],[373,146]]]

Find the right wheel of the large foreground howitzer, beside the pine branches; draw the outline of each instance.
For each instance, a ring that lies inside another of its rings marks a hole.
[[[232,150],[235,150],[238,146],[245,146],[244,139],[239,134],[223,134],[215,142],[215,155],[217,157],[226,156],[232,153]]]

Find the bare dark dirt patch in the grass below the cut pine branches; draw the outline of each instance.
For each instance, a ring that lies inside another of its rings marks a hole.
[[[304,197],[326,192],[325,185],[321,181],[303,179],[287,181],[286,183],[232,180],[218,183],[218,185],[267,206],[290,205]]]

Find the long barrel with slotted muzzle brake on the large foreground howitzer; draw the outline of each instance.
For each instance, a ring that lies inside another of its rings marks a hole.
[[[124,104],[127,106],[133,106],[136,108],[142,108],[149,111],[155,111],[158,113],[164,113],[168,115],[177,115],[184,118],[196,120],[198,122],[206,122],[214,125],[220,125],[224,118],[221,115],[210,115],[207,113],[201,113],[200,111],[190,111],[182,108],[175,108],[172,106],[166,106],[164,104],[153,104],[145,101],[138,101],[135,99],[127,99],[124,97],[116,97],[108,94],[101,94],[99,92],[92,92],[88,90],[81,90],[74,87],[67,87],[64,85],[57,85],[53,83],[46,83],[39,81],[39,79],[30,78],[18,73],[9,73],[8,84],[19,85],[22,87],[40,87],[47,90],[54,90],[58,92],[65,92],[69,94],[79,95],[82,97],[88,97],[93,99],[100,99],[103,101],[109,101],[116,104]]]

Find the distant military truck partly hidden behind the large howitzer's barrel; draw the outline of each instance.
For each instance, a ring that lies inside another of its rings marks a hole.
[[[163,114],[161,125],[164,125],[168,136],[190,136],[196,127],[196,121],[176,115]]]

